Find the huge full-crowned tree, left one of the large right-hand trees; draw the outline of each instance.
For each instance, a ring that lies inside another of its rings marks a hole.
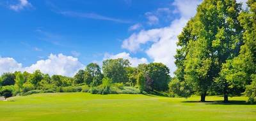
[[[182,82],[192,92],[201,94],[201,101],[219,76],[221,65],[236,57],[241,45],[242,29],[237,17],[241,4],[234,0],[205,0],[197,8],[195,17],[189,20],[179,36],[175,64],[175,80]],[[176,81],[177,82],[177,81]],[[188,88],[188,85],[192,87]]]

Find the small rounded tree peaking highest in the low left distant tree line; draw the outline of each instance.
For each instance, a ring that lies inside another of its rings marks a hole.
[[[34,85],[34,87],[38,87],[38,83],[43,80],[43,73],[40,70],[36,70],[29,78],[29,82]]]

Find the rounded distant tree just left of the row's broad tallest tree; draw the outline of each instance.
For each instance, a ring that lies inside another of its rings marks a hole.
[[[84,71],[84,82],[86,85],[97,86],[100,85],[103,75],[100,71],[100,66],[95,63],[90,63],[86,66]]]

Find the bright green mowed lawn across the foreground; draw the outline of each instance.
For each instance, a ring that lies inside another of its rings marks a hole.
[[[256,105],[246,97],[223,104],[218,96],[171,98],[132,94],[88,93],[33,94],[0,101],[0,120],[256,120]]]

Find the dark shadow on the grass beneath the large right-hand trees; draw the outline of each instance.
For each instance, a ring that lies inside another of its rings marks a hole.
[[[182,103],[204,103],[204,104],[222,104],[222,105],[256,105],[256,102],[251,104],[246,101],[228,101],[228,103],[224,103],[223,101],[182,101]]]

